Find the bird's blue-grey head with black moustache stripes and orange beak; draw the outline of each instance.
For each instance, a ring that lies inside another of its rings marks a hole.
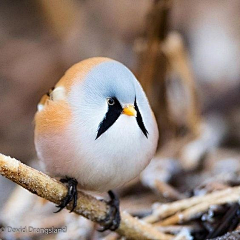
[[[143,90],[128,68],[103,58],[81,77],[73,82],[69,101],[86,125],[91,122],[91,127],[97,127],[95,139],[109,131],[122,116],[132,118],[131,122],[134,120],[139,131],[148,137],[138,106]]]

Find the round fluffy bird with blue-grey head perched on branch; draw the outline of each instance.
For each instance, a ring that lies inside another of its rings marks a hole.
[[[108,192],[114,216],[106,228],[118,228],[119,200],[112,189],[144,170],[158,135],[146,94],[125,65],[93,57],[69,68],[35,114],[37,156],[50,176],[68,186],[58,211],[71,201],[74,210],[78,189]]]

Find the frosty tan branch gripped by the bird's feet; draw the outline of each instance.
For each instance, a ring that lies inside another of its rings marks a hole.
[[[59,181],[3,154],[0,154],[0,174],[39,197],[56,204],[60,204],[67,195],[66,186]],[[72,204],[69,204],[67,209],[71,208]],[[99,201],[83,192],[78,192],[75,213],[104,225],[104,219],[108,211],[109,207],[105,202]],[[121,212],[121,218],[121,224],[116,232],[129,239],[167,240],[172,238],[172,235],[163,234],[150,224],[133,218],[126,212]]]

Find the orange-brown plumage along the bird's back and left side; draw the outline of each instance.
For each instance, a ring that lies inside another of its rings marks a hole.
[[[96,57],[76,63],[66,71],[55,85],[55,88],[63,87],[67,96],[73,83],[82,81],[85,75],[97,64],[110,60],[109,58]],[[54,101],[54,99],[51,99],[52,92],[52,90],[49,92],[50,96],[47,94],[43,95],[39,102],[42,105],[42,110],[35,115],[35,135],[62,131],[71,119],[71,109],[67,101],[65,99]]]

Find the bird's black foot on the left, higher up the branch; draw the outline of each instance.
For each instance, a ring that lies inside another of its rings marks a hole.
[[[77,195],[78,195],[77,184],[78,184],[78,182],[75,178],[69,178],[69,177],[60,179],[60,182],[67,184],[68,192],[67,192],[66,197],[62,200],[62,202],[56,206],[59,209],[54,213],[60,212],[63,208],[65,208],[73,200],[72,209],[70,211],[70,212],[72,212],[75,209],[75,207],[77,206]]]

